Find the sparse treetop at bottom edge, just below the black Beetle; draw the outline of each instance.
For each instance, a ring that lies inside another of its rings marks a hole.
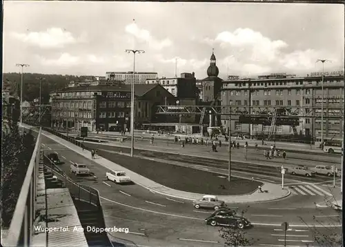
[[[248,207],[242,210],[241,215],[244,216],[244,213],[248,210]],[[237,213],[237,210],[235,210]],[[254,243],[253,238],[247,237],[246,230],[234,228],[231,226],[223,226],[219,229],[219,236],[224,241],[224,246],[250,246]]]

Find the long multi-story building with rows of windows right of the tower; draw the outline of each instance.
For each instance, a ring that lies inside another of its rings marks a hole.
[[[335,73],[326,74],[323,88],[324,112],[328,112],[328,108],[344,107],[344,74],[341,72],[338,72],[338,75]],[[317,108],[315,112],[321,112],[321,102],[322,77],[320,75],[295,77],[295,75],[288,76],[282,73],[262,76],[257,79],[228,80],[224,81],[221,92],[222,105],[301,106],[304,107],[304,112],[308,113],[311,112],[311,108]],[[228,128],[228,117],[222,116],[221,119],[223,126]],[[241,124],[239,116],[233,116],[231,128],[233,132],[256,135],[267,134],[270,126]],[[321,117],[300,118],[297,132],[306,136],[321,136]],[[324,118],[324,137],[340,137],[342,132],[342,119]],[[293,134],[293,128],[277,126],[276,135],[289,134]]]

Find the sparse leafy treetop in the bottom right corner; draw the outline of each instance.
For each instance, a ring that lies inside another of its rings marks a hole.
[[[323,247],[339,247],[342,246],[342,210],[336,208],[333,202],[336,201],[335,196],[331,199],[324,199],[325,206],[335,209],[335,214],[332,216],[324,215],[322,219],[326,219],[328,223],[322,221],[319,217],[313,215],[313,224],[308,224],[302,217],[299,217],[308,229],[313,233],[313,240],[317,243],[317,246]],[[322,209],[318,208],[315,204],[315,208],[322,213]],[[336,216],[336,217],[335,217]]]

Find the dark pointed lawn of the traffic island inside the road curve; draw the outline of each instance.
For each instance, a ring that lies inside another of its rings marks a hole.
[[[248,195],[262,186],[259,181],[239,177],[232,177],[228,181],[226,176],[217,173],[118,155],[107,150],[98,150],[97,155],[175,190],[210,195]]]

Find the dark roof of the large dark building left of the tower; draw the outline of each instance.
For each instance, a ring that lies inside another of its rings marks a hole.
[[[159,84],[135,84],[134,92],[136,96],[144,96],[146,92],[152,90],[156,86],[160,86]],[[121,84],[121,85],[97,85],[97,86],[77,86],[77,87],[70,87],[70,88],[63,88],[57,92],[87,92],[87,91],[122,91],[122,92],[130,92],[130,84]]]

